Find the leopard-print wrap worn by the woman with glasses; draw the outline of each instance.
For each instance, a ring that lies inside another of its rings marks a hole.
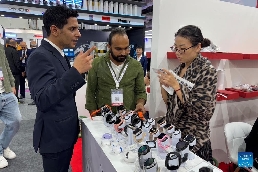
[[[173,72],[179,76],[184,65],[180,64]],[[216,105],[217,72],[209,59],[198,53],[182,78],[195,86],[190,91],[180,84],[184,103],[175,92],[173,95],[167,94],[166,122],[181,130],[182,139],[188,134],[196,137],[194,151],[198,151],[210,140],[209,120]]]

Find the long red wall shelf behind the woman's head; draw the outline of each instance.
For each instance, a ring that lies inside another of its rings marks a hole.
[[[244,54],[238,54],[238,53],[201,53],[201,55],[203,55],[204,57],[207,57],[208,59],[226,59],[226,60],[244,59]],[[177,59],[177,58],[174,52],[167,52],[167,59]]]

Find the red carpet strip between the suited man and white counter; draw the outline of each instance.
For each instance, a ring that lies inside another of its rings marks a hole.
[[[74,145],[74,153],[71,159],[72,172],[82,172],[82,138],[78,138]]]

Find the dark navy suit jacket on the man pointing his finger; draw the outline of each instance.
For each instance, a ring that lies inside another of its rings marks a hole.
[[[40,153],[56,153],[77,141],[79,122],[75,91],[86,84],[67,58],[48,42],[34,50],[26,71],[31,95],[37,107],[33,147]]]

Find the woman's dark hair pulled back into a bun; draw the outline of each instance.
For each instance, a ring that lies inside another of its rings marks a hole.
[[[207,47],[211,44],[210,40],[203,37],[201,29],[194,25],[187,25],[180,28],[176,33],[176,36],[181,36],[188,39],[192,45],[201,43],[201,48]]]

